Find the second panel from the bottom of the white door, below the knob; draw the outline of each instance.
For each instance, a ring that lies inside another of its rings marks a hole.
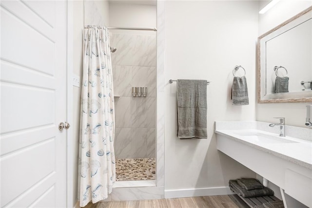
[[[55,138],[1,157],[1,207],[55,170]],[[36,156],[34,156],[36,155]]]

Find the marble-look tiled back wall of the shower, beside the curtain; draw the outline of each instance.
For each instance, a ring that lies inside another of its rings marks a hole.
[[[156,35],[110,35],[116,112],[117,159],[156,156]],[[147,87],[133,97],[132,87]]]

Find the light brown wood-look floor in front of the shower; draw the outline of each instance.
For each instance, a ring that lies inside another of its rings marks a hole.
[[[238,208],[228,195],[89,203],[85,208]]]

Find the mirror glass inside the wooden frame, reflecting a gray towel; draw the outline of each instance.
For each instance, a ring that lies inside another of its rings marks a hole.
[[[312,19],[266,41],[266,93],[311,90]]]

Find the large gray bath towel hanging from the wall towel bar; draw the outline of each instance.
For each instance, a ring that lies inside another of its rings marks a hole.
[[[207,80],[177,80],[177,137],[207,139]]]

